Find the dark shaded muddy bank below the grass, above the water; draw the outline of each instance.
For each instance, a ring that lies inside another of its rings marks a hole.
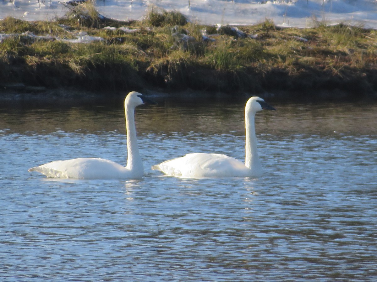
[[[121,70],[116,73],[112,66],[95,67],[82,75],[55,73],[48,66],[37,67],[31,73],[22,65],[12,65],[18,74],[18,82],[0,82],[1,100],[20,99],[116,99],[129,91],[150,94],[169,93],[198,96],[261,96],[279,101],[352,101],[377,100],[377,70],[348,71],[333,75],[323,70],[302,70],[289,74],[285,70],[268,73],[216,71],[195,67],[183,67],[180,73],[146,70],[132,74],[124,80]],[[167,68],[167,66],[164,66]],[[96,74],[93,74],[93,71]],[[15,73],[15,70],[11,70]],[[109,75],[110,73],[110,75]],[[115,74],[116,73],[116,74]],[[102,77],[93,83],[93,76]],[[15,79],[14,79],[15,80]]]

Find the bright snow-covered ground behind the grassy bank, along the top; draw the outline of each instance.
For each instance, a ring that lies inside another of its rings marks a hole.
[[[141,20],[158,6],[203,24],[255,24],[268,18],[282,26],[309,27],[317,20],[377,29],[377,0],[97,0],[96,6],[118,20]],[[0,0],[0,18],[53,20],[66,12],[57,0]]]

